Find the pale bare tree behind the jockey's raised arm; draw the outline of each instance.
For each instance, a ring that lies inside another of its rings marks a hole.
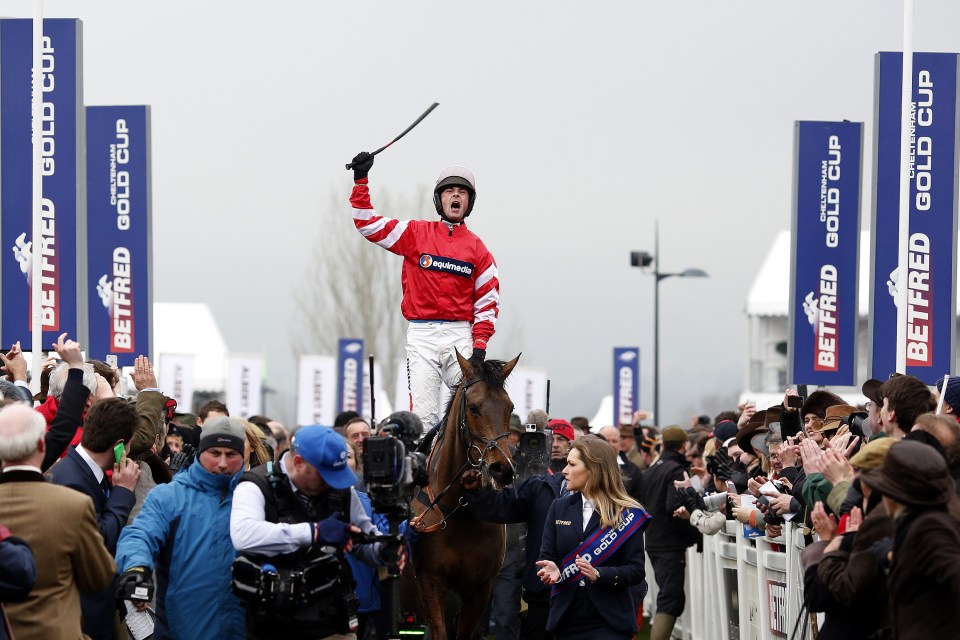
[[[377,211],[392,218],[424,218],[433,210],[430,192],[413,196],[373,194]],[[381,364],[380,387],[396,388],[394,363],[405,357],[406,321],[400,314],[403,259],[371,244],[353,224],[342,189],[331,192],[317,220],[317,237],[304,286],[297,295],[303,335],[294,354],[335,355],[339,338],[362,338],[365,351]]]

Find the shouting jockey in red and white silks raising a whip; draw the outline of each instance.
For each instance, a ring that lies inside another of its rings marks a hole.
[[[461,371],[454,350],[469,354],[474,370],[483,366],[487,341],[499,315],[497,264],[465,219],[477,199],[469,169],[447,167],[433,191],[440,220],[394,220],[370,203],[367,174],[373,156],[353,159],[353,221],[370,242],[403,256],[400,311],[407,328],[407,387],[410,408],[424,425],[440,421],[441,383],[451,389]],[[424,438],[432,440],[435,429]]]

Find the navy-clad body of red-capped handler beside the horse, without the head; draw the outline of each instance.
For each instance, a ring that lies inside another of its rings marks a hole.
[[[559,473],[531,476],[517,486],[501,491],[480,488],[480,474],[463,474],[463,488],[474,514],[490,522],[527,523],[526,562],[523,569],[523,599],[527,617],[522,621],[520,637],[528,640],[550,638],[546,631],[550,614],[550,587],[537,577],[537,560],[543,541],[543,524],[553,501],[563,493]]]

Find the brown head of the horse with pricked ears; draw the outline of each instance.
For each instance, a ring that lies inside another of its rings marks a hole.
[[[513,402],[503,383],[520,356],[510,362],[487,360],[478,371],[459,352],[457,360],[463,371],[458,391],[463,394],[460,405],[471,439],[469,444],[480,449],[480,458],[490,470],[490,477],[500,486],[508,485],[513,482],[513,463],[507,446]],[[475,458],[476,453],[468,455]]]

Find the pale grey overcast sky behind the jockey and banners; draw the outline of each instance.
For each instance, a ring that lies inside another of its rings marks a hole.
[[[207,302],[230,349],[264,350],[282,389],[267,410],[290,421],[294,296],[324,233],[317,212],[342,192],[352,224],[344,163],[434,101],[377,157],[374,202],[378,189],[412,197],[448,164],[474,171],[470,227],[501,282],[489,355],[522,349],[549,373],[552,414],[593,416],[612,348],[639,346],[652,408],[653,282],[629,253],[653,251],[659,218],[661,269],[710,274],[661,285],[659,422],[686,423],[708,396],[732,402],[746,293],[789,228],[793,123],[866,123],[866,226],[874,54],[903,35],[892,0],[47,0],[44,12],[83,20],[87,104],[152,107],[156,299]],[[960,51],[958,24],[956,0],[919,0],[914,48]]]

